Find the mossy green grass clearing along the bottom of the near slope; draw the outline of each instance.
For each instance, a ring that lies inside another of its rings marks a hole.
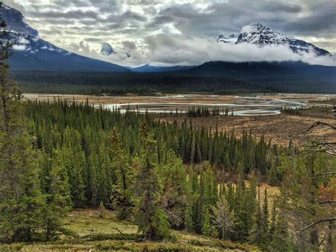
[[[144,241],[138,234],[138,226],[131,221],[118,220],[111,211],[100,218],[97,210],[75,210],[65,219],[65,227],[78,237],[61,237],[50,243],[0,244],[0,251],[258,251],[247,244],[186,231],[173,231],[177,237],[175,241]]]

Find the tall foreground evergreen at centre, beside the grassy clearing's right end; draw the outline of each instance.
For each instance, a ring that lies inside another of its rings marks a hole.
[[[134,160],[134,187],[136,195],[135,221],[139,230],[149,239],[167,239],[171,236],[167,214],[160,205],[162,185],[157,175],[156,143],[147,123],[140,126],[142,153]]]

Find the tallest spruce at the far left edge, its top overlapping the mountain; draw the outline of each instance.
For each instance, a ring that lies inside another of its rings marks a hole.
[[[44,197],[38,181],[38,154],[28,133],[21,91],[9,80],[6,24],[0,33],[0,234],[8,241],[31,241],[42,224]]]

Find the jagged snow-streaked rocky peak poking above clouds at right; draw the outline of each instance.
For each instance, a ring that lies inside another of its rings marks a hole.
[[[218,42],[223,43],[251,43],[254,45],[287,45],[293,53],[302,54],[313,52],[315,55],[330,55],[327,50],[318,48],[317,46],[307,43],[303,40],[298,40],[288,35],[278,33],[267,28],[262,23],[254,23],[252,25],[244,26],[242,31],[237,34],[231,34],[225,37],[223,34],[215,38]]]

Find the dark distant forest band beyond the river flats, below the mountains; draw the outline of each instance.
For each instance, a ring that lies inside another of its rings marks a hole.
[[[237,80],[179,73],[11,72],[23,92],[52,94],[111,94],[153,92],[212,94],[336,93],[335,82],[318,80]]]

